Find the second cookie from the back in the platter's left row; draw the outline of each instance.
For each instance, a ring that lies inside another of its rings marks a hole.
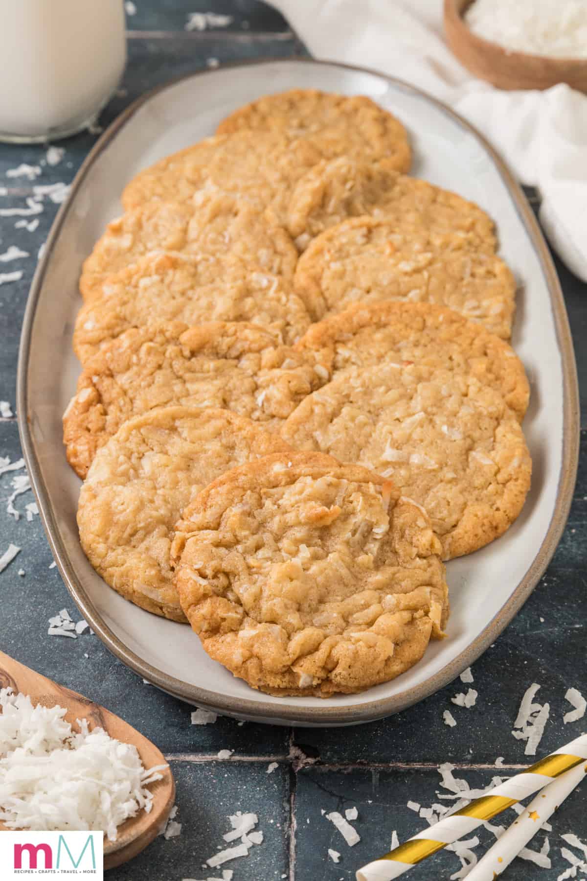
[[[84,262],[84,300],[103,296],[109,275],[150,251],[196,255],[203,284],[252,269],[291,279],[297,263],[290,235],[268,211],[221,191],[199,193],[193,204],[146,204],[108,224]]]

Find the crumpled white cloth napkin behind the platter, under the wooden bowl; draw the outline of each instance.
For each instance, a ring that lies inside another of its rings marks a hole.
[[[475,79],[443,37],[442,0],[271,0],[312,53],[380,70],[449,104],[537,187],[553,247],[587,281],[587,95],[568,85],[502,92]]]

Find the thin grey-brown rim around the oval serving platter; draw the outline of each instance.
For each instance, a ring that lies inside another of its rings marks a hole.
[[[223,65],[223,70],[227,68],[238,72],[240,68],[261,67],[272,64],[282,59],[265,59],[261,62],[252,61],[247,63],[235,63]],[[569,321],[562,297],[561,286],[554,269],[554,263],[547,248],[546,241],[540,232],[538,223],[534,218],[532,209],[530,208],[524,193],[517,184],[517,181],[510,174],[509,169],[503,162],[503,159],[495,152],[494,148],[488,144],[488,141],[481,134],[466,122],[458,114],[454,113],[450,107],[444,105],[441,101],[432,98],[429,94],[413,85],[405,83],[403,80],[393,77],[386,77],[377,70],[369,70],[368,68],[360,68],[353,65],[334,64],[330,62],[319,62],[313,59],[288,59],[288,63],[298,64],[328,64],[331,67],[339,67],[341,70],[354,70],[357,73],[367,73],[381,78],[390,84],[400,86],[407,92],[414,93],[435,105],[446,115],[452,117],[459,123],[463,129],[473,135],[481,146],[488,153],[502,180],[507,187],[512,203],[516,206],[517,214],[525,226],[525,230],[532,242],[532,248],[539,258],[539,263],[547,282],[550,300],[553,308],[554,327],[556,331],[557,342],[561,352],[562,362],[562,412],[563,412],[563,438],[562,438],[562,461],[559,473],[558,492],[554,511],[550,519],[547,533],[539,546],[532,563],[528,566],[524,577],[518,581],[517,587],[513,590],[509,600],[503,604],[500,611],[488,623],[479,636],[473,640],[465,650],[463,650],[450,663],[447,663],[436,674],[429,677],[421,685],[414,688],[404,690],[398,694],[381,700],[373,700],[363,703],[356,707],[334,707],[329,706],[325,701],[324,707],[300,707],[288,703],[287,699],[283,699],[283,703],[277,707],[268,707],[267,704],[255,700],[236,700],[228,696],[219,695],[217,692],[209,691],[197,685],[190,685],[182,682],[180,679],[171,677],[163,671],[146,663],[143,659],[136,655],[135,652],[128,649],[124,643],[110,630],[103,621],[99,612],[95,609],[92,601],[84,589],[84,584],[77,577],[71,566],[68,553],[62,540],[62,535],[57,527],[55,518],[55,508],[52,500],[49,498],[47,487],[44,483],[40,472],[40,463],[35,449],[33,433],[30,428],[30,414],[28,404],[28,384],[29,384],[29,363],[31,356],[31,337],[33,332],[33,323],[35,319],[37,305],[39,303],[40,294],[43,287],[45,271],[50,260],[55,242],[60,234],[63,222],[68,216],[70,199],[68,199],[58,212],[55,222],[48,236],[47,245],[44,255],[37,267],[33,278],[33,284],[29,293],[26,306],[26,313],[23,322],[23,329],[20,340],[20,350],[18,356],[18,374],[17,374],[17,411],[18,411],[18,429],[23,449],[23,455],[26,461],[26,467],[31,478],[33,491],[39,503],[40,517],[44,528],[47,532],[48,542],[55,557],[55,562],[62,574],[63,581],[70,591],[71,596],[77,603],[79,610],[92,626],[92,629],[99,635],[100,640],[104,642],[116,657],[123,663],[127,664],[131,670],[134,670],[139,676],[149,679],[153,685],[157,685],[163,691],[172,694],[180,700],[186,700],[190,704],[196,704],[202,707],[214,708],[220,713],[236,715],[241,718],[255,719],[258,722],[275,722],[278,716],[280,721],[302,725],[349,725],[360,722],[371,722],[376,719],[385,717],[393,713],[400,712],[407,707],[412,706],[430,694],[437,692],[438,689],[449,684],[455,677],[459,676],[462,670],[469,667],[492,642],[502,633],[525,603],[526,599],[536,587],[541,575],[547,568],[550,559],[552,559],[557,544],[560,541],[562,531],[565,527],[567,517],[569,515],[569,507],[571,504],[573,490],[576,481],[576,470],[578,464],[579,453],[579,395],[578,383],[576,377],[575,353],[573,350],[572,339],[570,336]],[[135,115],[137,109],[142,107],[154,95],[165,91],[170,86],[189,78],[197,78],[201,73],[209,74],[209,70],[195,71],[172,79],[165,85],[158,86],[150,92],[145,93],[141,98],[131,104],[114,122],[106,129],[99,141],[93,147],[92,151],[84,160],[77,175],[71,185],[71,195],[83,185],[84,178],[88,170],[92,167],[93,162],[106,146],[111,142],[119,130]],[[252,692],[253,693],[253,692]]]

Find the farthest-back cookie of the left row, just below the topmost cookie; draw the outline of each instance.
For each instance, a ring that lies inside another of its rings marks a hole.
[[[291,189],[322,159],[317,146],[282,131],[238,131],[208,137],[160,159],[122,192],[126,211],[147,202],[191,204],[194,194],[222,189],[282,219]]]

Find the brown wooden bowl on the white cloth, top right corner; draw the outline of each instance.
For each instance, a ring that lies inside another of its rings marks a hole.
[[[454,55],[475,77],[498,89],[549,89],[567,83],[587,93],[587,59],[529,55],[483,40],[463,19],[472,2],[444,0],[444,33]]]

